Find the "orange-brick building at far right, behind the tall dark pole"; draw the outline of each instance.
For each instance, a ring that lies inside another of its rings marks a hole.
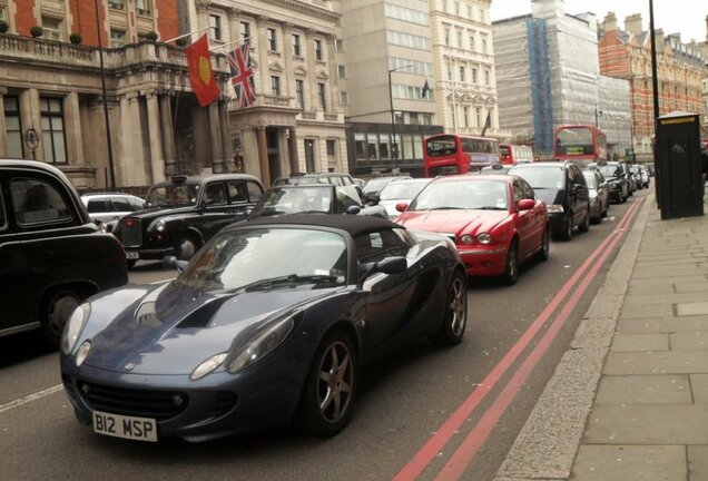
[[[642,28],[641,14],[625,19],[618,27],[613,12],[600,26],[598,43],[600,71],[626,79],[630,85],[632,140],[638,160],[652,160],[655,134],[650,32]],[[659,86],[659,114],[675,110],[706,115],[704,85],[707,59],[695,43],[682,43],[680,35],[655,30]]]

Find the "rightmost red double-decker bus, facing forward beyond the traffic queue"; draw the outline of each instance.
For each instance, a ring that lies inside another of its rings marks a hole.
[[[607,160],[607,136],[593,125],[555,127],[553,158],[576,160],[581,165]]]

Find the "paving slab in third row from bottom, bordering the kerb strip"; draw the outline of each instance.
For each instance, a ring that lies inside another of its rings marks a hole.
[[[692,404],[687,374],[602,376],[599,404]]]

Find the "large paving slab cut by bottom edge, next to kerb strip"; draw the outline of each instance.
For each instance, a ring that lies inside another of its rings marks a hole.
[[[678,445],[581,445],[573,481],[686,480],[686,448]]]

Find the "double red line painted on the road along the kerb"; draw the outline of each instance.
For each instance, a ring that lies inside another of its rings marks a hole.
[[[643,200],[645,198],[638,199],[630,206],[617,228],[613,229],[592,252],[592,254],[588,256],[580,268],[561,287],[541,314],[535,318],[533,324],[529,326],[504,357],[494,366],[494,369],[492,369],[478,387],[472,391],[470,396],[468,396],[460,408],[458,408],[458,410],[442,424],[435,434],[433,434],[433,436],[415,453],[411,461],[409,461],[409,463],[399,471],[399,473],[393,478],[394,481],[414,480],[425,470],[425,468],[427,468],[430,462],[436,458],[437,453],[442,451],[450,439],[460,430],[472,412],[495,387],[499,380],[519,359],[521,353],[535,337],[539,330],[549,321],[549,318],[551,318],[553,312],[561,305],[561,303],[563,303],[563,301],[566,301],[569,293],[578,284],[578,288],[568,297],[563,308],[553,320],[538,345],[531,351],[517,372],[513,373],[509,383],[507,383],[501,393],[491,403],[490,409],[481,415],[480,420],[476,424],[474,424],[470,433],[462,441],[440,473],[435,477],[435,480],[450,481],[456,480],[462,475],[464,470],[472,463],[479,449],[489,438],[499,419],[517,396],[517,393],[533,371],[533,367],[543,357],[552,342],[555,340],[559,331],[568,321],[568,317],[590,283],[594,279],[607,258],[612,254],[614,247],[619,244],[622,236],[628,230],[627,227],[631,224],[631,222],[633,222],[637,212],[643,205]]]

